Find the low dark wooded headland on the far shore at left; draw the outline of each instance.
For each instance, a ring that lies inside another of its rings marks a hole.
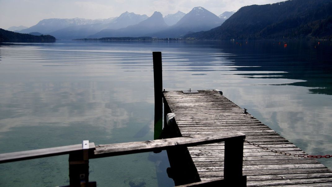
[[[21,34],[21,33],[15,33],[12,31],[6,31],[4,29],[0,29],[0,41],[55,41],[55,38],[50,35],[41,35],[41,36],[35,36],[35,35],[29,35],[29,34]]]

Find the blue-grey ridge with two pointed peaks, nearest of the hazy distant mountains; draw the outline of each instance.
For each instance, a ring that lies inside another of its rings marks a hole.
[[[221,25],[224,21],[203,7],[193,8],[172,26],[168,26],[164,20],[160,12],[154,12],[151,17],[136,25],[118,30],[105,29],[88,38],[139,36],[181,38],[190,32],[207,31]]]

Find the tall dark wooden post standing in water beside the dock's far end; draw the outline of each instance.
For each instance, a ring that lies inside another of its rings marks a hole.
[[[160,139],[163,128],[163,76],[161,52],[152,52],[154,81],[154,140]]]

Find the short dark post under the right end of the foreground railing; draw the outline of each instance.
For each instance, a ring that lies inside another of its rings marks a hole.
[[[246,186],[246,176],[242,176],[243,138],[225,140],[224,180],[226,184]]]

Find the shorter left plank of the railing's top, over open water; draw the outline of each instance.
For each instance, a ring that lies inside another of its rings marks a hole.
[[[89,152],[93,153],[94,149],[95,149],[95,143],[93,142],[89,143]],[[82,144],[66,145],[60,147],[51,147],[51,148],[18,151],[18,152],[9,152],[9,153],[0,154],[0,163],[69,154],[80,150],[83,150]]]

